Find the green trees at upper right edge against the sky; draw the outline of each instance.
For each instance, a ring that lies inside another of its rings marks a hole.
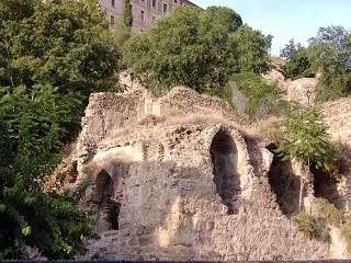
[[[342,26],[320,27],[309,45],[291,41],[281,56],[287,60],[284,75],[291,79],[320,72],[316,99],[324,102],[351,92],[351,31]]]

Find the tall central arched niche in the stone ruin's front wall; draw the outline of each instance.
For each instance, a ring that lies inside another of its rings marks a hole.
[[[211,157],[217,193],[223,204],[228,207],[228,215],[233,215],[233,203],[240,191],[240,179],[237,174],[237,147],[228,133],[220,130],[213,138]]]

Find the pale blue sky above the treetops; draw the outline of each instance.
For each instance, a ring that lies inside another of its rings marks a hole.
[[[234,9],[248,23],[274,36],[272,54],[279,55],[288,39],[303,45],[320,26],[342,25],[351,30],[351,0],[193,0],[202,8]]]

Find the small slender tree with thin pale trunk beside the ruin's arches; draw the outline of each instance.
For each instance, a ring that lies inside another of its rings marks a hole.
[[[327,170],[338,157],[330,141],[328,126],[322,115],[314,107],[301,111],[291,108],[284,122],[284,136],[278,147],[283,160],[293,159],[303,164],[305,174],[301,178],[299,209],[305,184],[308,182],[310,167]]]

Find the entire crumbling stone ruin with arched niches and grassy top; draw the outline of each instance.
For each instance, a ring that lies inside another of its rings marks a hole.
[[[186,88],[160,99],[143,89],[92,94],[68,185],[93,176],[82,206],[97,210],[101,238],[82,259],[346,258],[340,242],[310,240],[285,216],[296,185],[280,199],[288,167],[250,126]]]

